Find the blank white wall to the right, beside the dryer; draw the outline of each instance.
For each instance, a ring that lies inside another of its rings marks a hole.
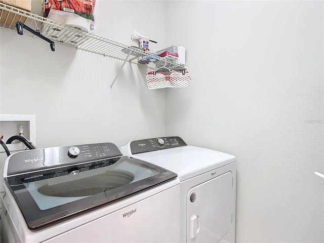
[[[174,14],[177,10],[177,14]],[[323,2],[172,1],[167,135],[234,154],[237,242],[323,242]]]

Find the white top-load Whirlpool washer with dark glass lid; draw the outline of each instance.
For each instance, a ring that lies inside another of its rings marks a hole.
[[[112,143],[26,150],[5,161],[2,242],[179,242],[177,174]]]

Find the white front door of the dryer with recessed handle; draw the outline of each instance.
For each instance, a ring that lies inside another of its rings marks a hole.
[[[232,173],[191,188],[187,194],[187,242],[218,242],[230,230]]]

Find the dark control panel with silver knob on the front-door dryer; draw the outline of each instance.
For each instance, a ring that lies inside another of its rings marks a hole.
[[[135,140],[130,144],[132,154],[146,153],[182,146],[187,146],[187,144],[180,137],[148,138]]]

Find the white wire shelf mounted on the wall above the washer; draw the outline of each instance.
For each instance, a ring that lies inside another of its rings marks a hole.
[[[0,27],[8,30],[16,31],[16,21],[20,21],[32,29],[38,29],[42,35],[53,42],[73,46],[80,50],[145,65],[149,69],[155,69],[165,64],[166,67],[173,70],[186,69],[183,64],[177,64],[171,60],[167,60],[166,63],[164,58],[137,47],[126,46],[78,28],[63,25],[5,3],[0,2],[0,11]],[[27,31],[24,31],[24,34],[33,35]]]

